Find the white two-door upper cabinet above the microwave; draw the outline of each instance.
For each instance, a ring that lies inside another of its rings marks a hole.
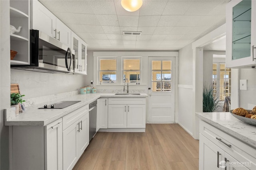
[[[38,0],[32,0],[32,29],[38,29],[71,47],[71,30]]]

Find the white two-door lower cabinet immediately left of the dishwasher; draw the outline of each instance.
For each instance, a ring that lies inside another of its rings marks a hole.
[[[63,131],[63,169],[72,170],[76,162],[89,145],[89,113],[88,106],[74,111],[74,116],[67,115],[63,117],[63,122],[72,125]],[[72,113],[71,113],[72,114]]]

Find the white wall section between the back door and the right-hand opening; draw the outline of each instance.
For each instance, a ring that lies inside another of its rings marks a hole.
[[[192,73],[193,51],[192,44],[183,47],[179,51],[178,62],[178,123],[192,135]]]

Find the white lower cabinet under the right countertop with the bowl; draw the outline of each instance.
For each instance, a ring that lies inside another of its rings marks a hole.
[[[199,170],[255,170],[256,149],[200,120]]]

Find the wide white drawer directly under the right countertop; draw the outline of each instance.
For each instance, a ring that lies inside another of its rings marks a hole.
[[[228,154],[232,155],[239,162],[245,164],[249,169],[256,169],[256,149],[243,143],[242,141],[228,135],[227,133],[213,127],[212,125],[200,120],[200,133],[219,146]],[[218,138],[218,139],[217,139]],[[226,143],[226,144],[225,144]],[[230,145],[230,146],[228,146]]]

